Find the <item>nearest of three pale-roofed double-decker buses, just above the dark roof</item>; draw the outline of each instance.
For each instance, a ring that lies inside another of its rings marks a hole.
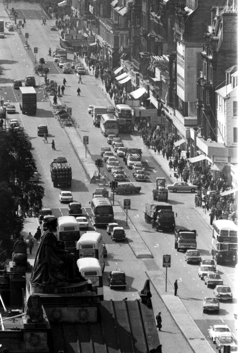
[[[97,290],[99,299],[104,300],[102,269],[98,259],[91,257],[80,258],[77,261],[77,266],[81,276],[92,282],[92,285]]]

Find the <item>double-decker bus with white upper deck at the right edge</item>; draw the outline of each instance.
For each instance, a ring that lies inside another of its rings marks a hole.
[[[212,256],[218,264],[237,263],[237,232],[238,227],[232,221],[214,221]]]

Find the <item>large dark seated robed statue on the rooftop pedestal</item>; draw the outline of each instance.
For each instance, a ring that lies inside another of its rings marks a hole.
[[[48,229],[39,243],[31,283],[37,286],[66,287],[70,283],[83,281],[75,256],[65,249],[64,243],[53,233],[56,219],[49,219]]]

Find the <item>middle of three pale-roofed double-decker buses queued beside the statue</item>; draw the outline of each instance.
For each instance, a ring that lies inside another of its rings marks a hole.
[[[104,271],[103,237],[101,233],[88,231],[81,235],[77,242],[77,258],[93,257],[98,259],[102,271]]]

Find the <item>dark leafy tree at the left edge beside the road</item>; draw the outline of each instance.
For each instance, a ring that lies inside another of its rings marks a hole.
[[[9,257],[11,239],[22,231],[24,219],[39,215],[44,188],[30,182],[36,163],[23,128],[1,130],[0,146],[0,253]]]

